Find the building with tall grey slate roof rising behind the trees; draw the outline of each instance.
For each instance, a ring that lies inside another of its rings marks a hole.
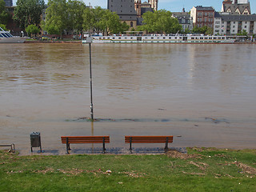
[[[137,26],[137,12],[134,8],[134,0],[108,0],[107,9],[118,14],[122,22],[126,22],[130,28]]]

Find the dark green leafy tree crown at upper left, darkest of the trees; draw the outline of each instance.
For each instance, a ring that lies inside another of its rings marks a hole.
[[[26,26],[39,26],[42,11],[45,9],[44,0],[18,0],[14,9],[14,20],[24,30]]]

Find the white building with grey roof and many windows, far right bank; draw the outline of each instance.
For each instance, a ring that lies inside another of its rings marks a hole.
[[[249,35],[256,34],[256,14],[215,14],[214,34],[234,36],[243,30]]]

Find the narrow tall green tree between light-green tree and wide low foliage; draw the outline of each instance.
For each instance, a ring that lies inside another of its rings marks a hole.
[[[74,30],[77,32],[82,32],[83,17],[82,14],[86,9],[86,4],[79,0],[69,0],[66,4],[68,13],[68,30]]]

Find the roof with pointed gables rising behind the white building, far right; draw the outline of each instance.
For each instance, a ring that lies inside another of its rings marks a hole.
[[[250,14],[250,2],[249,0],[224,0],[222,13]]]

